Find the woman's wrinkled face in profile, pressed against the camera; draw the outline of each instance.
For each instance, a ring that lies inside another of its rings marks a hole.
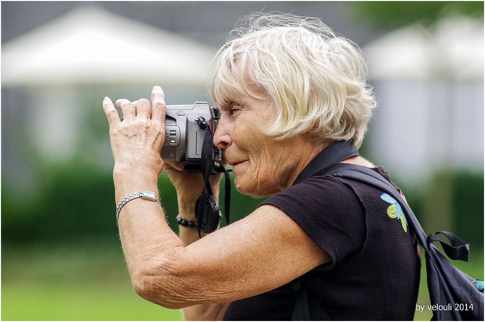
[[[261,132],[260,126],[268,124],[273,113],[269,97],[232,97],[219,110],[214,145],[223,149],[223,161],[233,166],[236,188],[259,197],[289,187],[295,171],[301,170],[301,140],[276,140]]]

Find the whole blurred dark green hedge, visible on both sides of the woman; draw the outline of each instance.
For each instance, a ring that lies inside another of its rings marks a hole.
[[[2,180],[2,243],[20,246],[86,239],[119,243],[111,172],[100,173],[79,164],[42,172],[42,191],[35,200],[22,199],[21,195],[9,188],[6,180]],[[484,174],[457,171],[450,175],[453,230],[466,242],[483,245]],[[234,187],[233,174],[231,179],[231,221],[236,221],[251,213],[265,198],[240,194]],[[406,193],[406,188],[401,188]],[[164,173],[159,177],[159,189],[168,223],[178,232],[175,221],[177,197]],[[220,194],[223,212],[224,189],[223,180]],[[423,197],[407,194],[407,198],[416,216],[422,216]]]

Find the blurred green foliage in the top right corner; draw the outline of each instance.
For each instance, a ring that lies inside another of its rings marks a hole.
[[[429,26],[449,13],[484,18],[484,1],[352,1],[351,6],[355,19],[381,32],[418,21]]]

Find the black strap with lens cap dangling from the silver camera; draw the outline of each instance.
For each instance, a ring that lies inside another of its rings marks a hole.
[[[212,189],[209,183],[209,176],[212,173],[212,164],[214,157],[213,139],[214,134],[210,129],[210,125],[207,124],[205,118],[199,116],[197,119],[197,125],[199,128],[205,131],[204,141],[202,144],[201,153],[201,166],[202,176],[204,177],[204,188],[200,197],[195,204],[195,211],[197,217],[197,228],[199,230],[199,238],[201,237],[201,230],[205,233],[211,233],[219,226],[219,220],[221,219],[221,212],[217,207]],[[225,175],[225,200],[224,200],[224,214],[226,225],[230,224],[229,221],[229,205],[231,197],[231,181],[229,178],[229,172],[224,167],[219,167],[216,172],[223,172]]]

